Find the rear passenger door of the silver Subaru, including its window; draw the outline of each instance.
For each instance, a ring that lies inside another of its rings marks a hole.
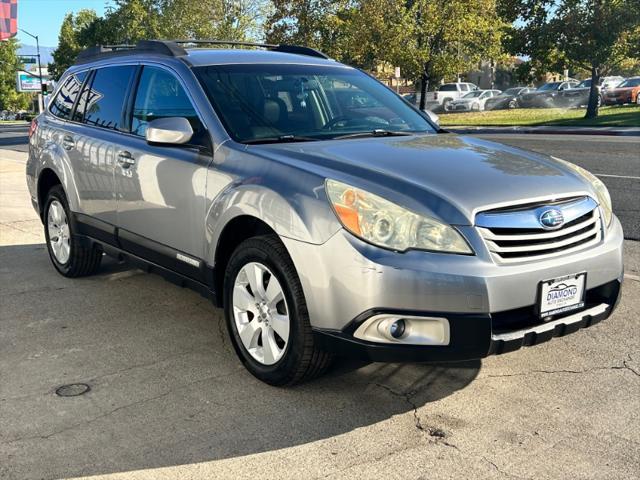
[[[73,115],[73,160],[86,233],[114,241],[116,197],[115,145],[123,131],[124,105],[134,65],[98,68],[85,82]]]

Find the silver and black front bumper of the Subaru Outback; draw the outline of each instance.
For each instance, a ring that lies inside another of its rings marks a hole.
[[[476,255],[400,254],[373,247],[343,230],[323,245],[284,238],[318,341],[327,349],[371,360],[464,360],[540,343],[612,313],[623,272],[623,234],[617,218],[595,247],[509,265],[492,260],[475,228],[459,229]],[[539,283],[582,271],[588,272],[585,313],[572,312],[569,320],[557,324],[561,318],[546,324],[539,321],[534,314]],[[379,344],[353,336],[360,323],[381,312],[447,318],[450,343]],[[514,336],[518,331],[521,335]]]

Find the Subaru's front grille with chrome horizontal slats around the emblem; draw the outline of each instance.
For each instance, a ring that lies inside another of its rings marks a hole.
[[[545,230],[539,213],[550,205],[566,212],[557,230]],[[508,213],[507,213],[508,212]],[[602,222],[597,204],[583,197],[565,203],[549,202],[527,210],[499,210],[479,214],[478,231],[500,263],[533,261],[575,252],[600,242]],[[510,226],[513,221],[517,226]]]

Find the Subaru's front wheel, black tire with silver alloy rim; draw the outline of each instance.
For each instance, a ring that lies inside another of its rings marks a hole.
[[[233,252],[224,276],[224,311],[238,357],[259,380],[294,385],[329,367],[331,355],[314,343],[302,285],[277,235],[250,238]]]

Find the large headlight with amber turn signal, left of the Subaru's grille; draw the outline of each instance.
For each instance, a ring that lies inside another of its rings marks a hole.
[[[355,236],[379,247],[472,254],[453,227],[413,213],[395,203],[335,180],[325,184],[340,223]]]

